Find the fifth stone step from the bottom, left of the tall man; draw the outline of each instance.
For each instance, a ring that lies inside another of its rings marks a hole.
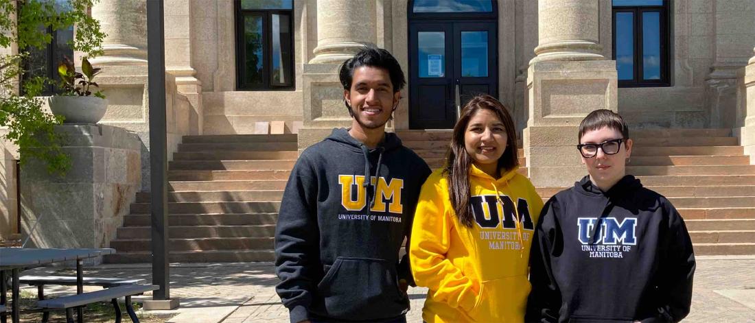
[[[275,213],[280,201],[168,202],[169,214]],[[131,203],[131,214],[150,214],[149,203]]]

